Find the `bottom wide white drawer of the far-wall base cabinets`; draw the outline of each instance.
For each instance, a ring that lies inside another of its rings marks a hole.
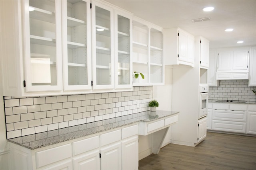
[[[246,123],[235,121],[212,121],[212,130],[245,133]]]

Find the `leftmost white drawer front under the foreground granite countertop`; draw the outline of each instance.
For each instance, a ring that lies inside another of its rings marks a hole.
[[[40,152],[36,152],[37,168],[70,158],[72,156],[71,144],[55,147]]]

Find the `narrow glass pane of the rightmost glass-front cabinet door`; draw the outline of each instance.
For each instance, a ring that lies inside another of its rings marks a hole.
[[[118,84],[130,84],[130,20],[118,15]]]

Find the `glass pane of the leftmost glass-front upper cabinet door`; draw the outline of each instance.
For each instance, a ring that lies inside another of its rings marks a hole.
[[[55,1],[30,0],[29,16],[32,86],[56,86]]]

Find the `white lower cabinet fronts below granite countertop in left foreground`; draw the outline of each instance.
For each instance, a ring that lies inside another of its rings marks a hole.
[[[18,170],[138,170],[138,124],[30,150],[10,143]]]

